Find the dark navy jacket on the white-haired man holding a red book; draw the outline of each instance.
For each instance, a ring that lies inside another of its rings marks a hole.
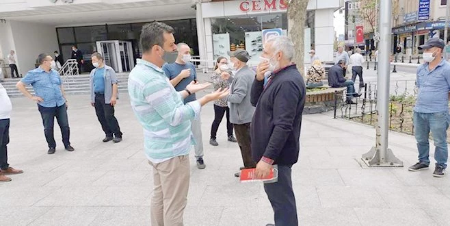
[[[295,64],[264,81],[253,81],[251,101],[256,107],[250,126],[252,158],[259,162],[263,156],[274,164],[297,162],[300,151],[300,127],[306,88]]]

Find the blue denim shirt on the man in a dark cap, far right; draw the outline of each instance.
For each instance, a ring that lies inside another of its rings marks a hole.
[[[414,112],[436,113],[449,111],[450,63],[441,60],[433,71],[428,63],[417,68],[417,94]]]

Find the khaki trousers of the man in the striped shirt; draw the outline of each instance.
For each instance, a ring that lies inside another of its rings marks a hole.
[[[177,156],[153,166],[153,226],[182,226],[189,190],[189,155]]]

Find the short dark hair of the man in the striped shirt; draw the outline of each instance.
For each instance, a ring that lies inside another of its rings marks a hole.
[[[164,32],[172,34],[174,29],[165,23],[157,21],[142,26],[140,43],[144,53],[150,51],[154,45],[163,47]]]

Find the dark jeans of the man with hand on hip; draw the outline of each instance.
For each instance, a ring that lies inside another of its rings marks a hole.
[[[45,108],[41,105],[38,105],[38,109],[40,112],[40,116],[42,116],[42,123],[44,123],[44,134],[45,139],[47,140],[47,144],[49,144],[49,148],[54,149],[56,147],[55,137],[53,136],[53,125],[55,123],[55,117],[58,122],[59,128],[61,129],[62,142],[64,143],[64,147],[68,147],[70,145],[70,128],[66,104],[54,108]]]

